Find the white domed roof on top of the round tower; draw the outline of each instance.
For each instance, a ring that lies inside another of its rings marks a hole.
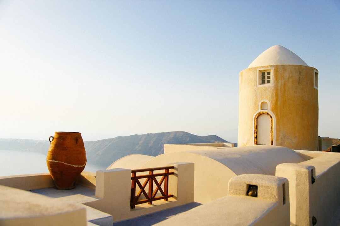
[[[261,53],[251,64],[249,64],[248,68],[282,64],[308,66],[305,61],[289,49],[281,45],[274,45]]]

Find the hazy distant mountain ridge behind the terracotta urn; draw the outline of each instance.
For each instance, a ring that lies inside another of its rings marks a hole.
[[[107,167],[116,160],[131,154],[149,156],[163,154],[164,144],[218,142],[228,143],[216,135],[197,136],[184,131],[174,131],[84,141],[84,145],[89,163]],[[49,146],[48,140],[0,139],[0,150],[36,151],[47,154]]]

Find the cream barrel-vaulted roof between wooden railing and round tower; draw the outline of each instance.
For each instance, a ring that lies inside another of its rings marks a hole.
[[[280,163],[305,161],[289,148],[255,145],[209,150],[178,150],[184,145],[168,145],[168,153],[149,160],[142,168],[165,166],[169,162],[193,162],[195,164],[194,201],[207,203],[228,193],[228,181],[237,175],[257,173],[275,175]],[[211,192],[214,190],[214,192]]]

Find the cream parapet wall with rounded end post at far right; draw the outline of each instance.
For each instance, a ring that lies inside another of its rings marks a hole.
[[[329,224],[340,207],[339,153],[323,153],[298,164],[279,164],[276,176],[289,181],[291,225]]]

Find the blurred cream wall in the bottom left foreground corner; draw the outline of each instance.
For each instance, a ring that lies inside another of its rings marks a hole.
[[[86,210],[80,204],[0,185],[0,225],[86,226]]]

